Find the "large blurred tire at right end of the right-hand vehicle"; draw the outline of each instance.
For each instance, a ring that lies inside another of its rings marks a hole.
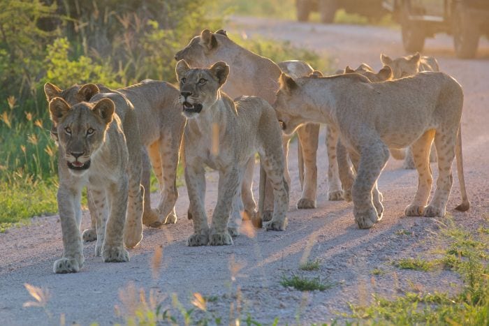
[[[460,59],[471,59],[476,56],[481,33],[470,19],[464,3],[455,3],[452,17],[453,45],[455,54]]]

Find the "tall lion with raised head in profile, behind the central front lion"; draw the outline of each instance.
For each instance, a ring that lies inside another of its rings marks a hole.
[[[272,60],[261,57],[258,54],[250,52],[228,38],[226,31],[219,30],[212,33],[208,29],[203,30],[200,35],[195,36],[189,44],[175,54],[175,59],[179,61],[184,59],[191,67],[208,67],[217,61],[225,61],[231,66],[227,82],[223,86],[223,91],[235,98],[241,95],[251,95],[263,98],[268,103],[275,102],[275,92],[279,88],[277,79],[282,73],[281,67],[288,68],[289,72],[299,73],[297,77],[309,75],[312,68],[303,63],[303,61],[286,61],[277,66]],[[307,68],[307,66],[309,68]],[[301,198],[297,202],[298,209],[307,209],[316,207],[316,150],[319,137],[319,126],[302,126],[298,129],[298,138],[302,148],[302,154],[305,163],[304,182],[302,187]],[[287,157],[289,138],[284,138],[284,155]],[[251,165],[251,163],[249,163]],[[287,165],[287,160],[286,160]],[[243,182],[243,202],[245,212],[254,212],[256,204],[251,193],[251,180],[253,166],[249,168],[248,177]],[[289,181],[289,170],[285,171],[286,179]],[[338,186],[339,184],[339,186]],[[268,187],[270,189],[270,187]],[[342,191],[340,181],[337,182],[337,188],[330,187],[330,193]],[[270,191],[267,191],[269,194]],[[272,196],[267,195],[267,198]],[[263,219],[271,218],[272,203],[267,200],[267,209],[263,213]]]

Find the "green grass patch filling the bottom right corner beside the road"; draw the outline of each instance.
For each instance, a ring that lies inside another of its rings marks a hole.
[[[488,325],[488,234],[484,228],[472,234],[449,223],[440,233],[440,241],[446,239],[449,244],[438,261],[463,280],[458,295],[407,292],[393,300],[374,295],[370,306],[351,305],[348,317],[367,325]],[[409,266],[426,264],[417,261]]]

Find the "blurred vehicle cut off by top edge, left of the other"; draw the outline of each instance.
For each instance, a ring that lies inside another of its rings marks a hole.
[[[382,0],[296,0],[297,20],[307,22],[311,11],[319,11],[321,22],[330,24],[336,10],[343,8],[346,13],[358,13],[369,20],[379,20],[385,13]]]

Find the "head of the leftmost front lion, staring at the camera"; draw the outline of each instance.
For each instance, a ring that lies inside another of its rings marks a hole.
[[[63,98],[49,103],[51,120],[57,129],[58,144],[64,149],[68,169],[81,175],[90,167],[90,161],[105,142],[105,134],[112,121],[115,105],[104,98],[96,103],[82,102],[73,106]]]

